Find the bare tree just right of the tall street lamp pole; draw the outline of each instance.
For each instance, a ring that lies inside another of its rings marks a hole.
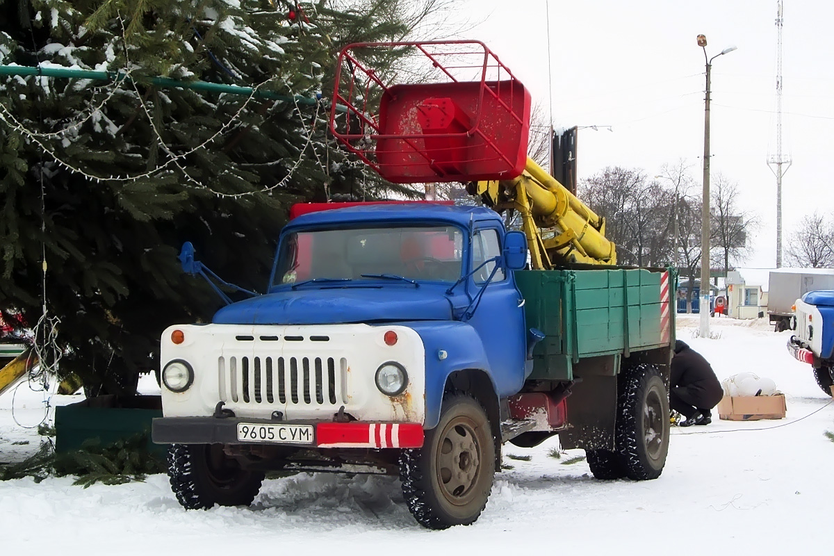
[[[758,227],[755,213],[738,207],[738,183],[721,173],[716,173],[710,191],[711,206],[711,251],[716,254],[716,263],[730,269],[730,259],[744,259],[749,239]]]

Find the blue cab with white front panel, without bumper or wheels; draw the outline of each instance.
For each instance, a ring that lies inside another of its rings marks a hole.
[[[182,392],[164,389],[166,417],[209,417],[222,402],[241,418],[341,412],[431,428],[450,373],[475,368],[498,397],[518,392],[524,308],[504,243],[485,208],[371,205],[295,219],[268,293],[163,334],[163,367],[193,373]]]

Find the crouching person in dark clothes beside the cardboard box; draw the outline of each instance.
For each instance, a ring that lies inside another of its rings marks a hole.
[[[681,427],[712,422],[710,409],[716,407],[724,395],[721,383],[701,353],[681,340],[675,343],[670,386],[670,407],[686,417],[686,421],[680,423]]]

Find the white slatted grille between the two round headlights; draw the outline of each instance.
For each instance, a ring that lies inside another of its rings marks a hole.
[[[220,399],[225,403],[280,403],[338,407],[347,403],[345,358],[221,357]]]

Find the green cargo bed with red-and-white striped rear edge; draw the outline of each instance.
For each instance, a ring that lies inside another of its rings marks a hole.
[[[628,357],[674,340],[667,268],[526,270],[515,279],[527,326],[545,333],[530,378],[573,380],[580,359]]]

